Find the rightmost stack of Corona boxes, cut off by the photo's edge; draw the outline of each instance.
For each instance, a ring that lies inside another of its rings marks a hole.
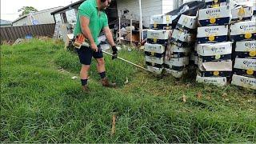
[[[232,18],[230,39],[235,42],[235,60],[231,83],[256,90],[256,21],[251,20],[252,15],[252,7],[240,6]]]

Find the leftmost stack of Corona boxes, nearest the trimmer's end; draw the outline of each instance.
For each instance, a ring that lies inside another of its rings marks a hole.
[[[147,30],[145,44],[146,66],[154,74],[162,74],[164,56],[171,29],[170,15],[154,15],[150,17],[150,30]]]

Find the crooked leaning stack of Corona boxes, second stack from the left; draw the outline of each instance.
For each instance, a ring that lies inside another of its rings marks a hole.
[[[196,38],[197,18],[182,14],[172,32],[170,44],[167,46],[165,67],[166,72],[175,78],[187,73],[190,52]]]

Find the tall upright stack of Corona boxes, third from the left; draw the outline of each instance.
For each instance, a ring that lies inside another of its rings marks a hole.
[[[207,1],[208,2],[208,1]],[[228,2],[206,3],[198,11],[197,82],[226,85],[232,76],[232,42],[229,42],[231,10]]]

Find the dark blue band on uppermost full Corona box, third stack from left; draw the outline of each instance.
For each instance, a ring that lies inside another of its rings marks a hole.
[[[215,23],[210,23],[210,19],[199,20],[201,26],[223,26],[230,24],[230,17],[216,18]]]

